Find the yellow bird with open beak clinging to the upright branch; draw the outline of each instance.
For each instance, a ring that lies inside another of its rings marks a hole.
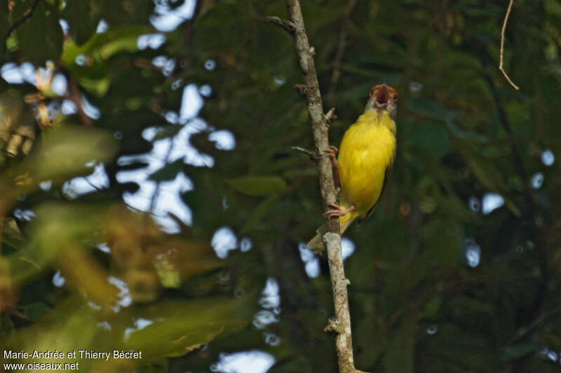
[[[396,157],[396,117],[398,92],[386,84],[374,85],[363,115],[346,130],[336,160],[337,148],[328,150],[334,176],[341,185],[341,204],[330,205],[327,216],[339,216],[341,234],[354,220],[370,216]],[[308,247],[323,251],[318,230]]]

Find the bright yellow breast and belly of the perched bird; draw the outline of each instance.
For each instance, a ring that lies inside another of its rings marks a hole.
[[[342,220],[365,218],[378,201],[396,153],[396,123],[387,111],[368,110],[344,134],[339,149],[341,206],[355,206]],[[340,223],[343,223],[340,221]]]

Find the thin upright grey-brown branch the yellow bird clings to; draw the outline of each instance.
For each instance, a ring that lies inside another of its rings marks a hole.
[[[325,115],[320,95],[316,67],[313,64],[313,47],[310,46],[304,17],[298,0],[285,0],[288,10],[288,21],[276,19],[269,22],[288,31],[294,36],[298,62],[304,74],[304,85],[299,87],[299,92],[306,97],[308,111],[311,118],[311,129],[313,142],[316,147],[317,166],[320,179],[321,198],[323,211],[327,211],[327,204],[337,204],[339,197],[333,182],[332,165],[326,150],[329,147],[329,121],[333,116]],[[283,25],[290,25],[290,29]],[[292,27],[294,29],[292,30]],[[349,312],[349,299],[346,286],[349,281],[345,278],[343,257],[341,251],[341,236],[339,235],[339,219],[325,218],[327,232],[323,234],[323,244],[327,248],[329,260],[331,284],[333,288],[333,300],[336,321],[330,323],[327,330],[337,333],[335,344],[337,349],[337,360],[340,373],[360,372],[354,367],[353,343],[351,336],[351,314]]]

